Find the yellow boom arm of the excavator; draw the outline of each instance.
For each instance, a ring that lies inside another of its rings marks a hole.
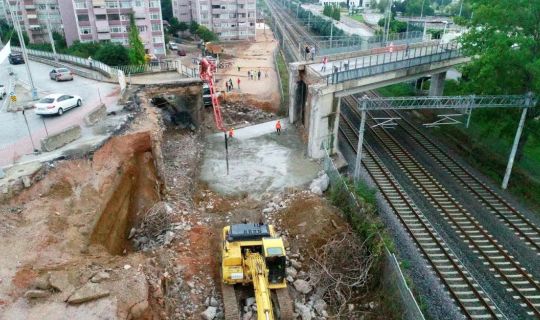
[[[247,252],[244,268],[253,281],[255,301],[257,302],[257,320],[275,320],[272,296],[268,287],[268,269],[264,258],[258,253]]]

